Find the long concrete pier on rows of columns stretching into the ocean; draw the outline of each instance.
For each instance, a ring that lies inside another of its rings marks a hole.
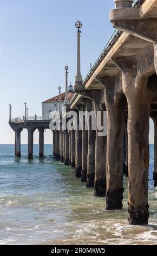
[[[148,224],[149,118],[154,121],[154,186],[157,186],[157,0],[114,0],[110,21],[116,29],[84,81],[81,75],[80,36],[77,27],[77,72],[74,96],[64,100],[66,112],[107,112],[107,136],[99,130],[53,131],[54,156],[75,168],[76,178],[106,198],[106,210],[123,207],[123,173],[128,175],[129,224]],[[66,66],[66,95],[68,69]],[[27,113],[25,114],[25,116]],[[68,121],[68,119],[67,119]],[[55,122],[55,120],[54,120]],[[12,121],[15,154],[21,156],[20,135],[28,130],[28,157],[32,159],[33,133],[50,120]]]

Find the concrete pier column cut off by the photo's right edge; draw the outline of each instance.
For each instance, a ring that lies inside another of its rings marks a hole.
[[[157,113],[151,113],[151,118],[154,122],[154,173],[153,173],[153,180],[154,180],[154,187],[157,186]]]

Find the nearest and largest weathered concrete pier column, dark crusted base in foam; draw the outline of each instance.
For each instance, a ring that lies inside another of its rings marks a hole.
[[[150,106],[134,95],[128,106],[130,224],[148,224],[149,112]],[[142,108],[140,107],[142,103]]]

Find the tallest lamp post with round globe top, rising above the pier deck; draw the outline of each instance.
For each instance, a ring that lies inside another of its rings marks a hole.
[[[81,57],[80,57],[80,36],[81,31],[80,28],[82,27],[82,23],[77,21],[75,23],[77,28],[77,72],[75,76],[75,86],[82,86],[82,75],[81,75]]]

